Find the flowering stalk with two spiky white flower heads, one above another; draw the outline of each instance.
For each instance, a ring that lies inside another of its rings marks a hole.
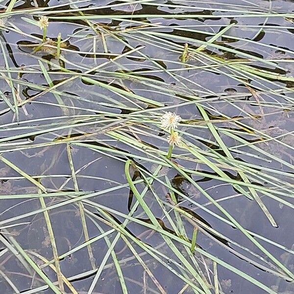
[[[171,135],[168,137],[168,142],[170,144],[170,148],[167,154],[167,158],[170,159],[172,156],[172,149],[174,145],[181,146],[181,137],[178,132],[175,132],[174,129],[177,128],[181,121],[181,117],[176,115],[174,112],[166,112],[161,118],[161,127],[167,128],[170,130]]]

